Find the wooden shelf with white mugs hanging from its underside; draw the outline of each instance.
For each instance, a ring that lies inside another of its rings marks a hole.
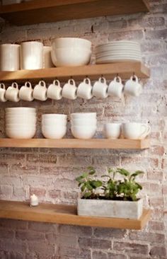
[[[57,67],[50,69],[38,70],[19,70],[19,71],[0,71],[0,81],[25,81],[40,79],[84,79],[88,76],[90,79],[98,79],[103,75],[106,79],[113,79],[117,74],[122,79],[129,79],[132,74],[136,74],[139,78],[149,78],[149,68],[140,62],[125,62],[115,64],[98,64],[83,67]]]

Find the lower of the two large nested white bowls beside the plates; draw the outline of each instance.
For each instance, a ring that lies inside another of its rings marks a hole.
[[[84,66],[90,62],[91,50],[79,47],[56,49],[52,47],[52,62],[56,67]]]

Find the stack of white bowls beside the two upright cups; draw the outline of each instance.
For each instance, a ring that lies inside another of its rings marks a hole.
[[[76,139],[91,139],[96,129],[96,113],[71,113],[71,132]]]

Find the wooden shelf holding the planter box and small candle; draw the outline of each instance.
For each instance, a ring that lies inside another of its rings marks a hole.
[[[101,226],[115,229],[142,229],[149,221],[151,211],[144,209],[140,219],[85,217],[76,214],[74,205],[42,204],[30,207],[27,202],[0,201],[0,218],[42,221],[78,226]]]

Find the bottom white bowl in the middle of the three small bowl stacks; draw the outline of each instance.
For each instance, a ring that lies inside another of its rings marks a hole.
[[[42,134],[46,139],[62,139],[67,132],[67,127],[45,127],[42,126]]]

